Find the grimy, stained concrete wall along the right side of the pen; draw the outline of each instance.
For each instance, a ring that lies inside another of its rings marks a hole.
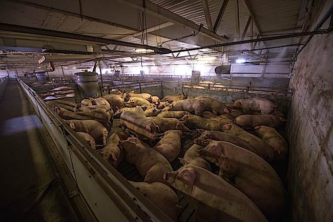
[[[316,1],[310,30],[331,4]],[[333,221],[332,58],[333,32],[314,36],[295,63],[287,122],[290,221]]]

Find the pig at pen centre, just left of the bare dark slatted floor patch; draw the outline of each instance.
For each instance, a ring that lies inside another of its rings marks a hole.
[[[172,163],[178,157],[181,150],[180,130],[168,130],[164,132],[163,138],[153,147],[161,153],[169,163]]]

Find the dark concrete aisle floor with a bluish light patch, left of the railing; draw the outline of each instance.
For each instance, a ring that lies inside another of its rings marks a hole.
[[[0,221],[76,221],[16,80],[0,99]]]

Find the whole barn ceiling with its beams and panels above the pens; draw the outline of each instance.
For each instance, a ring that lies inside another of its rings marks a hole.
[[[258,35],[297,32],[303,24],[301,9],[306,3],[306,0],[4,0],[0,23],[162,46],[174,51],[237,41],[242,35],[244,39],[253,39]],[[222,5],[226,7],[214,30],[211,26],[216,24]],[[43,55],[91,54],[92,58],[102,55],[109,58],[105,63],[108,65],[141,61],[142,55],[135,52],[138,47],[106,42],[47,33],[25,34],[19,28],[10,32],[0,30],[0,68],[35,68],[40,66],[37,61]],[[226,53],[232,57],[244,50],[293,43],[298,43],[298,39],[210,47],[160,56],[143,55],[142,60],[191,62],[205,55],[222,56]],[[259,61],[290,59],[296,48],[249,51],[246,55],[249,60]]]

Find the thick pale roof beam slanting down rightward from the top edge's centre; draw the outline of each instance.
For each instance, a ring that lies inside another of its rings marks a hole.
[[[214,40],[220,41],[220,42],[226,42],[227,39],[225,37],[219,36],[216,33],[205,29],[200,28],[197,24],[195,24],[193,21],[188,20],[184,17],[181,17],[169,10],[166,10],[150,1],[147,0],[114,0],[117,3],[139,9],[141,11],[145,11],[155,17],[163,18],[170,20],[172,23],[188,27],[192,29],[193,31],[199,31],[202,35],[205,35],[207,37],[210,37]]]

